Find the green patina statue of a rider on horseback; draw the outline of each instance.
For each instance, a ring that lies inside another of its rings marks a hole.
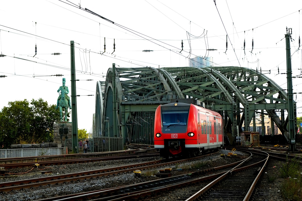
[[[62,118],[62,108],[65,109],[65,121],[67,121],[67,111],[68,107],[71,109],[70,98],[68,96],[69,90],[68,87],[65,86],[66,79],[62,79],[63,86],[60,86],[57,92],[59,92],[59,97],[57,99],[57,105],[55,109],[60,108],[60,120],[63,121]],[[61,91],[61,94],[60,94]]]

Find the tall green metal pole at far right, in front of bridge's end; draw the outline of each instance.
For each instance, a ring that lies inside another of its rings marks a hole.
[[[295,127],[294,127],[294,94],[293,94],[293,81],[292,81],[292,71],[291,71],[291,44],[290,37],[291,32],[290,29],[286,27],[285,34],[285,43],[286,43],[286,67],[287,67],[287,98],[288,98],[288,151],[294,152],[296,149],[296,140],[295,140]]]

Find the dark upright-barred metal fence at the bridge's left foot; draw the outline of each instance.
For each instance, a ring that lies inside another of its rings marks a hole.
[[[123,138],[93,137],[95,152],[113,152],[124,149]]]

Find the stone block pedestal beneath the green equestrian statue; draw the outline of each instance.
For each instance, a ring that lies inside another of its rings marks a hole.
[[[71,122],[62,121],[53,124],[53,142],[58,143],[58,147],[68,147],[72,152],[72,124]]]

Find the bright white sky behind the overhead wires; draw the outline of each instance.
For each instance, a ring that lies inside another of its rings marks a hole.
[[[9,101],[24,99],[30,102],[42,98],[48,104],[56,104],[62,78],[66,78],[71,95],[71,40],[76,46],[76,79],[93,79],[76,82],[76,92],[80,95],[77,97],[78,127],[87,131],[92,126],[95,112],[96,82],[105,80],[103,76],[112,63],[125,68],[183,67],[188,66],[187,57],[209,56],[213,57],[217,66],[261,67],[262,73],[271,70],[271,74],[266,75],[287,89],[284,35],[286,27],[289,27],[292,28],[293,38],[293,76],[301,74],[302,51],[296,51],[302,21],[300,0],[290,3],[279,0],[217,0],[217,7],[212,0],[70,2],[1,1],[0,51],[7,56],[0,57],[0,75],[8,77],[0,78],[0,109],[8,106]],[[73,3],[77,8],[66,3]],[[114,24],[79,9],[79,4],[81,8],[88,8]],[[189,37],[187,32],[201,37]],[[207,33],[206,37],[203,37],[204,33]],[[104,52],[104,37],[106,52],[101,55],[99,53]],[[111,54],[114,39],[116,49]],[[244,39],[246,54],[243,51]],[[184,50],[179,54],[181,40]],[[37,55],[34,56],[36,44]],[[209,52],[206,49],[217,50]],[[55,56],[52,53],[62,54]],[[64,76],[38,77],[56,74]],[[302,92],[301,83],[302,78],[293,79],[294,93]],[[89,94],[94,96],[84,96]],[[294,94],[294,100],[297,102],[297,116],[302,116],[302,94]]]

